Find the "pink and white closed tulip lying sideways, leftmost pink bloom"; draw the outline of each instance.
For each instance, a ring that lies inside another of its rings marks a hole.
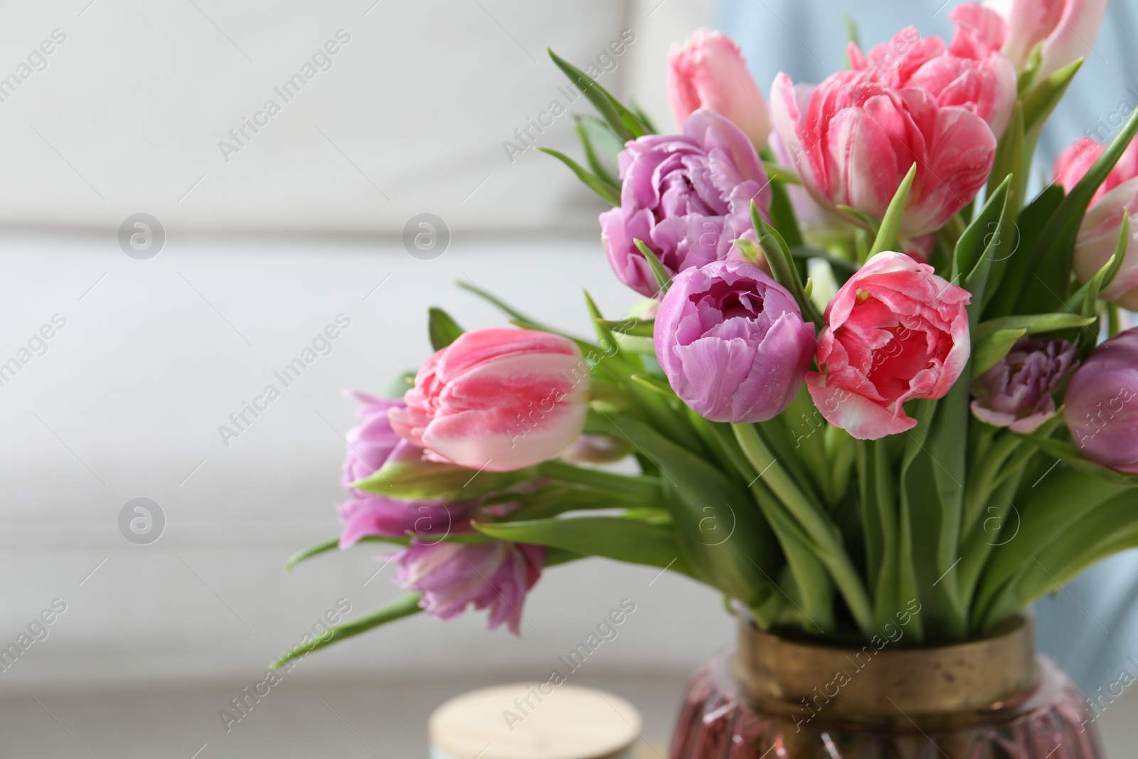
[[[585,426],[588,365],[568,338],[479,329],[437,352],[390,409],[394,429],[461,467],[513,471],[556,457]]]

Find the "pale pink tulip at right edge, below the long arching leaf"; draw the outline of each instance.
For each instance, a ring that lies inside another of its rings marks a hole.
[[[1138,311],[1138,178],[1122,182],[1104,195],[1083,216],[1074,244],[1074,273],[1089,282],[1114,255],[1123,214],[1130,214],[1130,240],[1122,267],[1099,294],[1123,308]]]

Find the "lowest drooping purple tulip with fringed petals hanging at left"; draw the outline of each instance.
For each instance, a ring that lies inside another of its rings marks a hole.
[[[526,594],[542,576],[545,546],[521,543],[417,543],[395,554],[395,584],[419,591],[419,604],[436,619],[452,619],[469,604],[489,608],[489,628],[505,622],[521,632]]]

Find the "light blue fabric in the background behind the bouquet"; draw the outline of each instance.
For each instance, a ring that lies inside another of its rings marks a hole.
[[[951,34],[957,0],[724,0],[716,25],[743,50],[765,93],[780,71],[795,82],[819,82],[844,68],[844,17],[857,19],[863,49],[888,41],[906,25],[925,36]],[[1098,42],[1074,85],[1040,135],[1033,185],[1050,179],[1055,156],[1075,138],[1108,141],[1112,118],[1138,107],[1138,0],[1112,0]],[[1040,176],[1046,172],[1047,176]],[[1127,657],[1138,657],[1138,552],[1100,563],[1037,604],[1040,649],[1087,694],[1118,679]]]

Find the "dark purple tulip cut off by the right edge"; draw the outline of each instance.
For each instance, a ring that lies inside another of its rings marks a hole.
[[[1085,456],[1138,475],[1138,328],[1095,348],[1071,378],[1063,405]]]

